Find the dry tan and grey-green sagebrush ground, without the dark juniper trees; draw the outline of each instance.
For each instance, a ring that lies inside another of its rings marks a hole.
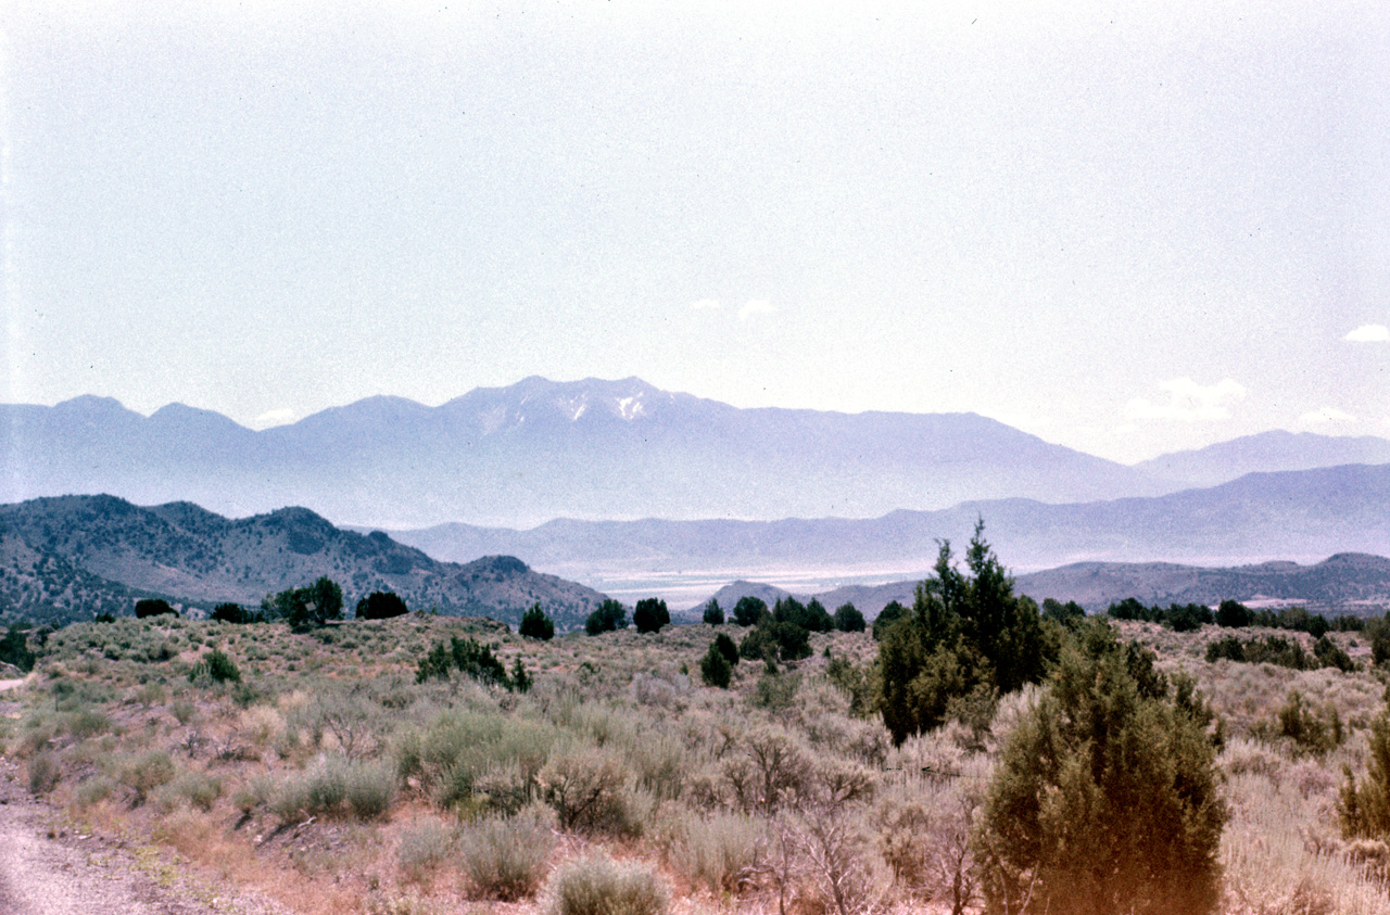
[[[1339,826],[1386,693],[1355,633],[1333,636],[1361,661],[1341,672],[1207,662],[1213,626],[1118,629],[1190,673],[1220,722],[1222,911],[1390,912],[1390,850]],[[716,630],[79,623],[10,694],[0,750],[83,829],[302,912],[979,911],[970,832],[1047,687],[894,747],[865,711],[869,633],[813,633],[812,657],[744,661],[726,690],[699,673]],[[452,637],[507,669],[520,655],[530,689],[417,683]]]

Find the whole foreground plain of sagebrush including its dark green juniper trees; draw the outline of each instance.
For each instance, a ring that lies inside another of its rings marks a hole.
[[[873,626],[150,607],[7,636],[0,748],[82,829],[304,912],[1390,912],[1390,626],[1088,618],[979,530],[962,560]]]

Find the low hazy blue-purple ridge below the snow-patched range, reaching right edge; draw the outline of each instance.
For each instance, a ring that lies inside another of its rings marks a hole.
[[[790,569],[920,573],[940,540],[963,546],[977,518],[1015,569],[1163,558],[1204,565],[1390,553],[1390,465],[1251,473],[1150,498],[1049,505],[972,501],[873,519],[553,521],[530,530],[442,525],[392,536],[439,558],[517,555],[580,580],[684,569],[758,578]]]

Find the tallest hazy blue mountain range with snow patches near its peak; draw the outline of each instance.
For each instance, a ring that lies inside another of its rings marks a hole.
[[[0,501],[111,493],[338,522],[873,517],[969,498],[1156,494],[1145,471],[973,414],[738,410],[641,379],[528,378],[441,407],[371,397],[253,432],[171,404],[0,405]]]

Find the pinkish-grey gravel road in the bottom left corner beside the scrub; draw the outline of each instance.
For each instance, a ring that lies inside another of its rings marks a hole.
[[[157,875],[158,879],[156,879]],[[265,903],[139,866],[118,840],[75,833],[0,758],[0,915],[279,915]]]

